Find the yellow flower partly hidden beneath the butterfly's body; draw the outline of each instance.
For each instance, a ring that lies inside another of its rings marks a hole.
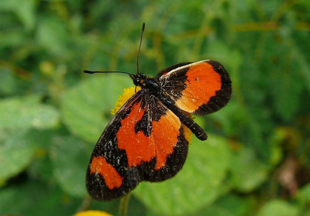
[[[141,88],[137,86],[137,92]],[[115,107],[114,109],[111,110],[111,113],[114,115],[117,113],[117,111],[126,103],[126,101],[131,98],[135,94],[135,87],[130,87],[124,89],[122,95],[118,96],[117,102],[115,102]],[[192,118],[192,115],[188,112],[184,112],[188,117]],[[193,133],[183,124],[183,131],[184,131],[184,136],[185,139],[189,141],[189,144],[192,144],[192,136]]]

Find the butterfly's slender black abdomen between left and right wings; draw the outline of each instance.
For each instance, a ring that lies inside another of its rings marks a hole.
[[[178,107],[176,107],[168,97],[163,95],[160,99],[162,103],[169,110],[171,110],[199,140],[206,140],[208,138],[206,132],[196,122],[194,122],[193,119],[189,118]]]

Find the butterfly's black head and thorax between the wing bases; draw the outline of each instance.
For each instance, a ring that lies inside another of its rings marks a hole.
[[[155,78],[148,78],[143,73],[137,74],[134,77],[133,82],[136,86],[140,86],[142,89],[147,89],[154,95],[162,94],[162,89],[158,81]]]

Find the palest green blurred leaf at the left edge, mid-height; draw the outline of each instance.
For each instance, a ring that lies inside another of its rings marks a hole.
[[[53,107],[39,103],[38,96],[0,100],[0,131],[28,128],[53,128],[59,123],[59,113]]]

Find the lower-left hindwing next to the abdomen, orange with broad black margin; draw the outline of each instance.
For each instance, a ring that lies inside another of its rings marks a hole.
[[[164,111],[164,115],[159,119],[152,118],[156,165],[151,175],[145,175],[145,180],[158,182],[170,179],[181,170],[187,157],[188,140],[184,137],[180,119],[162,102],[156,101],[154,110],[155,113]]]

